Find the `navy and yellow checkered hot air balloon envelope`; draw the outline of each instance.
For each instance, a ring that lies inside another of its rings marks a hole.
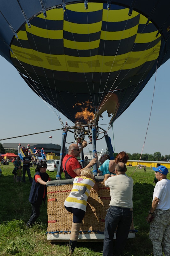
[[[170,57],[170,3],[65,2],[2,0],[0,54],[71,121],[114,121]]]

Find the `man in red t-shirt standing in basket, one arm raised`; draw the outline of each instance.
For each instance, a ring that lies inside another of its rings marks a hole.
[[[80,152],[83,148],[87,146],[87,141],[83,140],[80,148],[77,144],[71,144],[68,148],[68,154],[63,158],[63,171],[66,176],[66,179],[72,179],[76,176],[80,176],[82,170],[90,168],[93,164],[97,163],[97,159],[93,158],[90,163],[82,168],[81,164],[77,160],[77,157],[80,155]]]

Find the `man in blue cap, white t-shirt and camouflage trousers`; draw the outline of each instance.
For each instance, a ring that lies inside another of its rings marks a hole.
[[[150,224],[149,238],[153,244],[154,256],[170,256],[170,180],[166,175],[168,169],[160,165],[152,168],[155,171],[157,182],[150,212],[147,221]]]

